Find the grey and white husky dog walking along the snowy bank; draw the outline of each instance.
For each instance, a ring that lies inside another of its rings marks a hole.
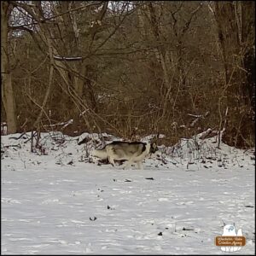
[[[127,160],[125,167],[137,163],[139,169],[143,169],[143,160],[151,153],[158,150],[155,143],[141,142],[113,142],[102,149],[95,149],[91,155],[101,160],[108,159],[114,165],[114,160]]]

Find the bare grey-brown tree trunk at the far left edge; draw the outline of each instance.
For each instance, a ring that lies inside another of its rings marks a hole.
[[[1,2],[1,73],[2,73],[2,101],[6,113],[7,132],[17,131],[15,110],[15,96],[12,84],[12,75],[9,64],[8,24],[10,6],[8,1]]]

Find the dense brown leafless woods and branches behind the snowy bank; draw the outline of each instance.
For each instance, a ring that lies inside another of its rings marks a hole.
[[[2,1],[8,132],[208,128],[254,145],[253,1]]]

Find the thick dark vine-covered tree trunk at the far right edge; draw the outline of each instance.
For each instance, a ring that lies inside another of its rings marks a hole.
[[[224,96],[227,99],[227,106],[224,108],[230,109],[224,142],[240,148],[252,146],[254,134],[251,102],[255,83],[253,81],[255,8],[252,3],[247,1],[240,3],[241,15],[238,15],[234,1],[215,2],[218,39],[224,61]]]

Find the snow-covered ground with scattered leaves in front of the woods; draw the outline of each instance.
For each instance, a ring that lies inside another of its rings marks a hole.
[[[255,253],[252,150],[196,137],[122,170],[88,161],[96,134],[45,133],[35,153],[30,133],[14,137],[1,142],[2,254],[229,254],[214,245],[224,223],[246,236],[236,254]]]

